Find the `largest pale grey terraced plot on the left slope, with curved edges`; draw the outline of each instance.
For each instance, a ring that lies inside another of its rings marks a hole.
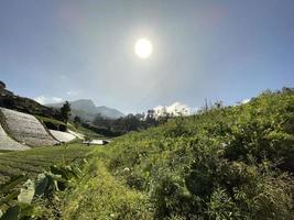
[[[10,134],[30,146],[47,146],[58,142],[51,136],[42,123],[33,116],[0,108]]]

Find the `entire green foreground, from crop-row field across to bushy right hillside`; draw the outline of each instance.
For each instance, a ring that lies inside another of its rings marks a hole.
[[[87,155],[83,166],[72,162]],[[69,144],[0,157],[3,218],[293,219],[294,90],[174,118],[102,147]],[[30,195],[31,204],[21,204]]]

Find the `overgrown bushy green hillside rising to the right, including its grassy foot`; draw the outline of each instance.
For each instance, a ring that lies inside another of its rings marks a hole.
[[[292,219],[293,162],[294,91],[266,92],[97,150],[64,218]]]

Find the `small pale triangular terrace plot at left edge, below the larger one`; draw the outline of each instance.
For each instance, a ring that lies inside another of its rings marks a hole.
[[[17,141],[12,140],[3,130],[0,124],[0,150],[4,151],[22,151],[28,150],[29,146],[18,143]]]

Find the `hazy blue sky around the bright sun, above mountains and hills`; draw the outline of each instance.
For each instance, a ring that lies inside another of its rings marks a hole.
[[[293,87],[293,0],[0,0],[0,80],[42,102],[233,105]]]

